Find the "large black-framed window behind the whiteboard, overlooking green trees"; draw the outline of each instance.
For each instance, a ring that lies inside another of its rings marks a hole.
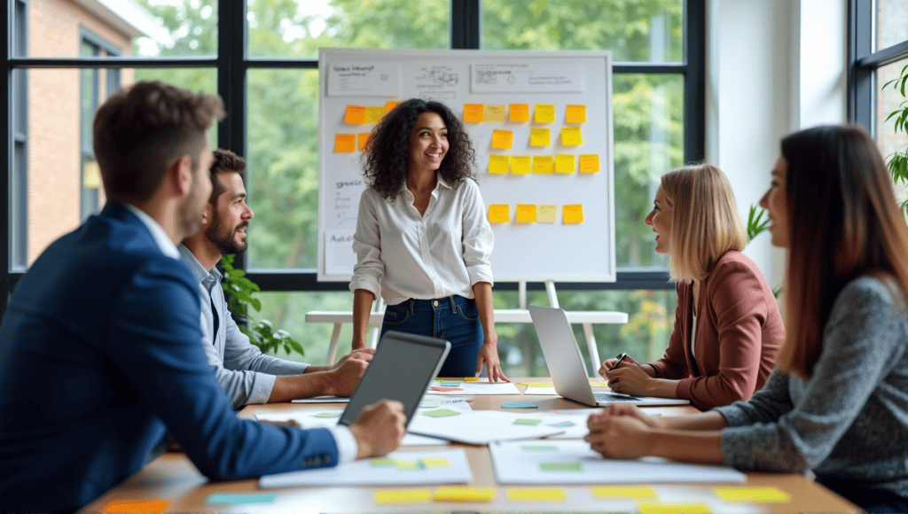
[[[67,0],[9,4],[12,39],[25,48],[4,52],[16,114],[5,127],[15,142],[7,156],[13,188],[0,190],[11,199],[0,220],[10,228],[0,243],[7,292],[47,243],[103,203],[90,113],[116,87],[157,78],[224,98],[229,115],[212,144],[246,157],[255,211],[249,251],[237,264],[262,286],[263,316],[303,343],[305,360],[319,362],[330,327],[306,325],[304,313],[349,310],[352,295],[346,283],[315,280],[318,48],[610,50],[618,282],[558,284],[559,301],[571,310],[628,312],[627,325],[596,328],[602,355],[655,357],[665,348],[676,299],[642,220],[659,175],[704,156],[704,0],[126,4],[113,15]],[[71,157],[60,158],[70,147]],[[517,307],[516,284],[495,289],[498,308]],[[546,302],[541,289],[530,284],[530,301]],[[531,327],[501,325],[498,333],[508,372],[544,374]],[[342,334],[341,351],[345,341]]]

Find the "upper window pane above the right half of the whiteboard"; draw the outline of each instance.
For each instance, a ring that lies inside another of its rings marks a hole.
[[[683,0],[483,0],[482,47],[610,50],[617,62],[684,60]]]

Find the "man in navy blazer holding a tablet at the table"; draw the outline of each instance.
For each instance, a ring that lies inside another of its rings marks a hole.
[[[221,99],[156,82],[94,118],[108,203],[25,273],[0,325],[0,509],[73,510],[139,470],[165,430],[211,479],[334,466],[403,437],[400,403],[350,429],[240,420],[199,341],[198,283],[175,242],[212,192]]]

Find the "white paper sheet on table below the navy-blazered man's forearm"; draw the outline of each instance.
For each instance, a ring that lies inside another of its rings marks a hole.
[[[433,465],[415,469],[401,469],[394,465],[375,466],[374,460],[400,460],[414,462],[432,460]],[[447,465],[438,465],[447,460]],[[278,475],[265,475],[259,479],[262,488],[288,486],[410,486],[418,484],[457,484],[473,479],[469,470],[467,453],[457,450],[395,451],[380,459],[360,459],[336,468],[293,471]]]

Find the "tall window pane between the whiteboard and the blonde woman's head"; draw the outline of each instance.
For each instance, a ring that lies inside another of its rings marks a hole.
[[[666,267],[656,254],[652,209],[662,173],[684,163],[684,78],[680,75],[612,76],[615,124],[617,264]]]

